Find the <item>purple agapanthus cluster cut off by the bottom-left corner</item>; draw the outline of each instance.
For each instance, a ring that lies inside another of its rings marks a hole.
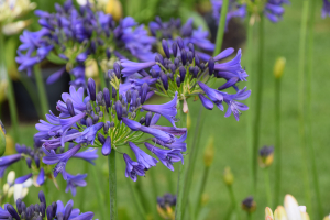
[[[65,206],[61,200],[52,202],[48,207],[43,191],[38,193],[40,204],[32,204],[26,207],[25,202],[18,199],[15,207],[6,204],[4,208],[0,207],[0,219],[26,219],[26,220],[92,220],[94,212],[88,211],[80,213],[79,209],[74,209],[74,201],[69,200]]]

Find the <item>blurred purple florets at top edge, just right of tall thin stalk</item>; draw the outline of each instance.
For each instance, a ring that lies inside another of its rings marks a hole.
[[[289,4],[289,0],[267,0],[264,9],[264,14],[270,19],[270,21],[276,23],[282,20],[284,14],[283,4]]]

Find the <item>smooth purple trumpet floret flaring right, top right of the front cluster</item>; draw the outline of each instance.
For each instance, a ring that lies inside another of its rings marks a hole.
[[[177,114],[176,105],[177,105],[177,91],[175,92],[175,97],[172,101],[163,105],[144,105],[142,106],[142,109],[162,114],[173,124],[173,127],[176,127],[175,125],[175,117]]]

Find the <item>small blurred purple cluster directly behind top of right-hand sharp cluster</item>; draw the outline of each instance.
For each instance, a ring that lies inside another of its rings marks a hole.
[[[210,55],[215,51],[215,44],[210,42],[209,32],[204,31],[202,28],[194,29],[194,20],[188,19],[185,24],[182,24],[180,19],[172,19],[168,22],[163,22],[161,18],[156,18],[155,21],[150,22],[148,28],[153,36],[155,36],[161,46],[162,40],[165,38],[169,44],[174,43],[177,37],[182,37],[185,48],[188,51],[188,44],[195,44],[196,54],[202,61],[208,61]],[[169,48],[169,53],[174,52]],[[180,51],[178,51],[180,53]],[[148,59],[150,61],[150,59]]]

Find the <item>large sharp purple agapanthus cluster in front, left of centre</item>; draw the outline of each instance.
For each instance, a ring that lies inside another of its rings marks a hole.
[[[109,72],[112,80],[112,89],[103,88],[96,91],[96,82],[88,79],[88,96],[84,97],[84,88],[76,90],[70,87],[69,94],[63,94],[63,101],[57,102],[59,117],[51,112],[48,122],[41,121],[36,125],[40,131],[35,139],[43,142],[43,157],[45,164],[56,164],[54,176],[62,173],[64,179],[69,176],[65,172],[67,162],[72,157],[79,157],[80,150],[91,145],[101,147],[103,155],[117,151],[123,155],[127,163],[125,176],[136,180],[138,176],[144,176],[152,166],[156,166],[157,160],[150,156],[138,144],[144,143],[150,153],[169,169],[174,170],[173,163],[184,163],[182,152],[186,151],[187,129],[175,125],[177,114],[177,96],[164,105],[145,105],[153,95],[146,82],[135,88],[119,92],[120,84],[119,65],[114,64],[114,72]],[[119,88],[119,90],[118,90]],[[157,125],[161,116],[173,122],[173,127]],[[153,138],[141,140],[144,134]],[[151,140],[152,143],[147,141]],[[55,151],[72,142],[73,147],[64,153]],[[163,146],[157,147],[156,144]],[[124,153],[124,145],[129,145],[135,154],[133,161]],[[164,148],[166,147],[166,148]],[[88,150],[87,150],[88,151]],[[88,154],[87,154],[88,155]]]

